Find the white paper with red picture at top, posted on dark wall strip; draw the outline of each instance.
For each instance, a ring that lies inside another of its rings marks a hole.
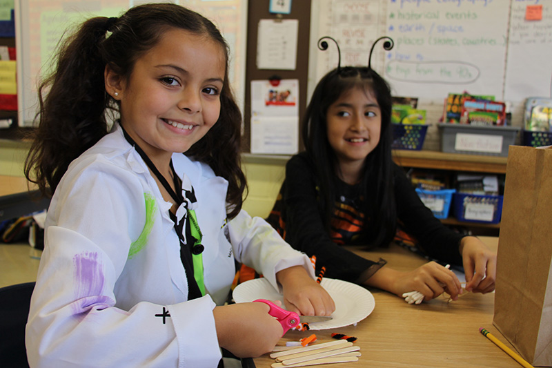
[[[299,80],[251,81],[251,153],[293,155],[299,150]]]

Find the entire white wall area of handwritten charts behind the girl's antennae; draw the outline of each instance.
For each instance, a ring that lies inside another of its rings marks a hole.
[[[542,19],[528,21],[534,5]],[[366,66],[373,41],[392,37],[393,50],[378,44],[372,65],[393,95],[435,106],[464,91],[516,106],[551,96],[552,0],[319,0],[311,15],[311,43],[337,39],[342,66]],[[334,50],[311,45],[309,95],[337,66]]]

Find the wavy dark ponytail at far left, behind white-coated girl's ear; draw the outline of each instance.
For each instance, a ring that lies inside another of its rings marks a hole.
[[[55,72],[39,84],[38,128],[25,162],[25,176],[51,195],[73,159],[108,133],[101,43],[114,19],[84,22],[59,48]],[[34,177],[31,173],[34,171]]]

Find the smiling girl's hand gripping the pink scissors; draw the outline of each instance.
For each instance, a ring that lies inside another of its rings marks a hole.
[[[272,351],[284,329],[268,311],[268,304],[258,302],[215,307],[220,347],[239,358],[257,358]]]

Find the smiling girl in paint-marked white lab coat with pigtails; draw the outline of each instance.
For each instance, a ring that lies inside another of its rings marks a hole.
[[[39,97],[26,175],[53,195],[31,367],[217,367],[221,348],[270,351],[282,327],[268,305],[224,305],[235,260],[299,313],[335,309],[306,255],[242,210],[241,115],[213,23],[170,3],[89,19]]]

